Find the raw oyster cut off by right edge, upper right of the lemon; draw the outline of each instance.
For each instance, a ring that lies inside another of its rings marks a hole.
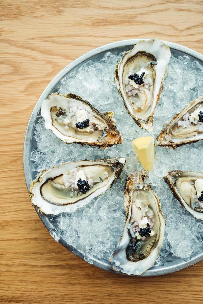
[[[176,114],[157,136],[155,145],[176,149],[203,139],[203,97],[193,100]],[[202,121],[201,121],[202,120]]]

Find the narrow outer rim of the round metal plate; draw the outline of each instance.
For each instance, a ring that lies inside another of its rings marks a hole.
[[[77,59],[75,59],[74,61],[72,61],[69,65],[65,66],[47,85],[47,87],[45,88],[45,90],[43,91],[41,96],[39,97],[39,99],[33,109],[33,112],[30,116],[28,126],[27,126],[27,129],[25,132],[25,140],[24,140],[24,148],[23,148],[23,164],[24,164],[25,182],[26,182],[26,186],[27,186],[28,190],[29,190],[29,185],[32,181],[30,168],[29,168],[30,140],[31,140],[33,126],[34,126],[34,121],[35,121],[38,111],[41,108],[42,101],[45,98],[47,98],[47,96],[53,90],[53,88],[56,86],[56,84],[77,65],[83,63],[84,61],[86,61],[86,60],[90,59],[91,57],[93,57],[97,54],[100,54],[102,52],[111,51],[111,49],[115,49],[115,48],[119,48],[119,47],[131,46],[140,40],[142,40],[142,39],[128,39],[128,40],[121,40],[121,41],[117,41],[117,42],[111,42],[111,43],[105,44],[101,47],[97,47],[91,51],[88,51],[87,53],[83,54],[82,56],[80,56]],[[149,40],[149,39],[147,39],[147,40]],[[184,47],[183,45],[174,43],[174,42],[168,42],[168,41],[164,41],[164,40],[162,40],[162,41],[165,44],[167,44],[171,49],[174,49],[174,50],[177,50],[177,51],[180,51],[183,53],[187,53],[188,55],[203,62],[203,55],[201,55],[200,53],[198,53],[188,47]],[[35,210],[36,210],[38,216],[40,217],[41,221],[43,222],[44,226],[47,228],[48,231],[50,231],[53,228],[53,226],[47,220],[45,215],[38,212],[37,207],[35,207]],[[74,253],[75,255],[77,255],[78,257],[80,257],[81,259],[84,260],[84,254],[79,252],[77,249],[73,248],[72,246],[67,245],[65,243],[64,239],[60,238],[59,243],[61,243],[70,252]],[[172,267],[165,266],[165,267],[161,267],[160,269],[149,269],[144,274],[142,274],[142,276],[157,276],[157,275],[173,273],[175,271],[179,271],[179,270],[185,269],[189,266],[192,266],[202,260],[203,260],[203,252],[200,253],[199,255],[197,255],[196,257],[192,258],[192,260],[189,262],[181,261],[176,266],[172,266]],[[93,261],[93,265],[97,266],[101,269],[116,273],[116,274],[122,274],[120,272],[112,270],[111,268],[109,268],[108,265],[106,265],[103,262],[96,260],[96,259]],[[124,275],[124,274],[122,274],[122,275]]]

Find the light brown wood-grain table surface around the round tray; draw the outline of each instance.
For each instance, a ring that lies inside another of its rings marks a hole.
[[[96,268],[56,243],[29,201],[23,141],[38,97],[67,64],[103,44],[151,38],[200,53],[202,1],[1,2],[0,303],[202,303],[203,262],[159,277]]]

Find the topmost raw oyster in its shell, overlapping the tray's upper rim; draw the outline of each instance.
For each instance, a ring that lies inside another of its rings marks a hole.
[[[116,66],[115,82],[124,105],[138,126],[148,132],[153,130],[154,110],[170,56],[169,47],[160,40],[141,40]],[[133,79],[135,73],[139,77]]]

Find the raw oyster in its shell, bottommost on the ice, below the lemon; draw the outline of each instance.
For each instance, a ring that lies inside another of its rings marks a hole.
[[[132,173],[124,189],[123,235],[110,261],[114,270],[141,275],[154,265],[163,244],[165,217],[147,171]]]

